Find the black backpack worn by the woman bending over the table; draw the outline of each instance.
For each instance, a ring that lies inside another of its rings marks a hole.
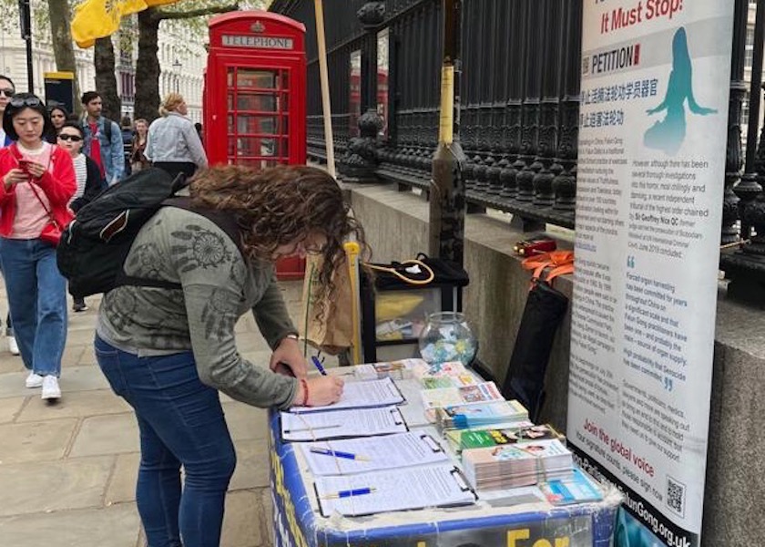
[[[186,185],[164,170],[139,170],[101,192],[76,214],[56,248],[56,263],[76,297],[107,293],[120,285],[179,289],[180,285],[125,274],[123,265],[138,231],[163,206],[197,212],[215,222],[240,246],[236,220],[229,214],[191,207],[187,197],[173,197]],[[240,249],[241,251],[241,249]]]

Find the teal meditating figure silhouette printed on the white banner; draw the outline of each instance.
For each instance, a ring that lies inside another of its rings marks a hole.
[[[688,53],[688,38],[685,28],[680,27],[672,38],[672,71],[669,73],[667,94],[658,107],[647,110],[649,115],[667,110],[666,118],[646,131],[643,143],[648,148],[664,150],[670,156],[678,152],[686,136],[686,99],[688,108],[694,114],[707,116],[717,113],[715,108],[699,106],[693,98],[693,67]]]

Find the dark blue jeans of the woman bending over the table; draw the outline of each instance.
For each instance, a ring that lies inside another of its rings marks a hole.
[[[139,357],[99,336],[95,346],[112,389],[136,410],[141,440],[136,501],[148,547],[218,547],[236,467],[218,391],[201,383],[191,352]]]

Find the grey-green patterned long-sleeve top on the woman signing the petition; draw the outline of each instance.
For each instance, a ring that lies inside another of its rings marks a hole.
[[[290,406],[297,380],[242,358],[234,333],[249,309],[271,348],[297,332],[272,264],[245,263],[214,222],[163,207],[138,232],[125,271],[183,289],[125,285],[110,291],[98,311],[101,338],[138,356],[192,350],[203,383],[256,407]]]

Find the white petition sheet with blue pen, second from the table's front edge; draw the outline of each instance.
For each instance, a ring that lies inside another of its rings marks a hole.
[[[317,454],[311,449],[329,450],[332,453]],[[322,441],[303,445],[302,450],[314,475],[352,475],[449,460],[444,448],[433,437],[413,432],[364,439]],[[357,459],[335,456],[338,452],[355,455]]]

